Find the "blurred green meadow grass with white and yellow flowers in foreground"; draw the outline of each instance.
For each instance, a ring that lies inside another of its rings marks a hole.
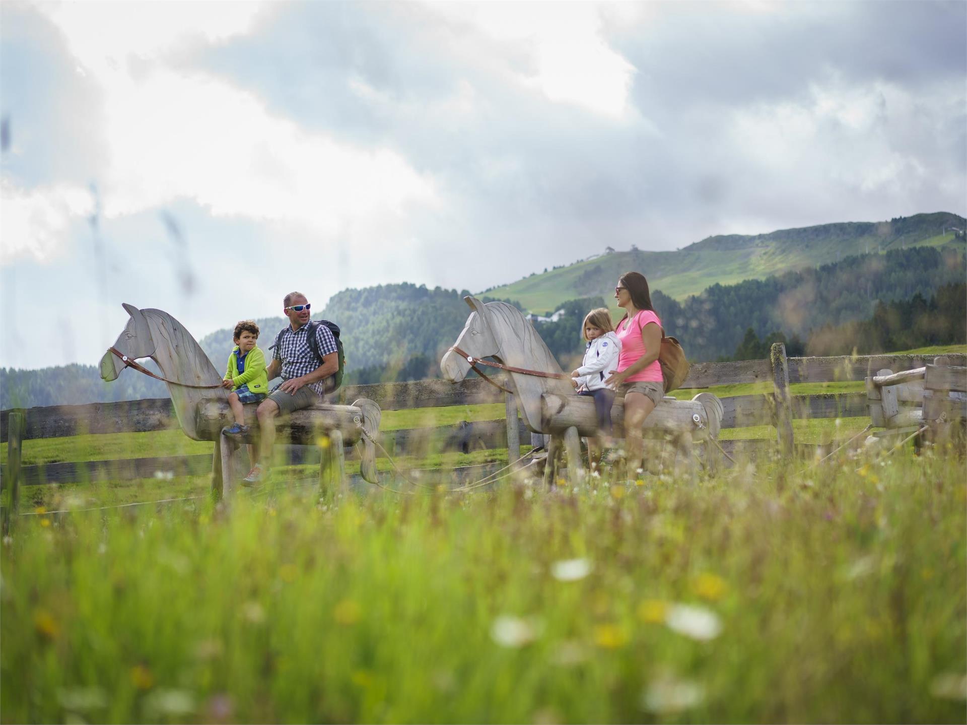
[[[0,719],[962,722],[962,460],[794,469],[22,517]]]

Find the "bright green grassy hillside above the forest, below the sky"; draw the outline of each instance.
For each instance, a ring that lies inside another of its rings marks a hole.
[[[958,235],[950,227],[961,230]],[[566,300],[605,294],[623,272],[644,274],[652,289],[684,300],[712,285],[735,285],[791,270],[836,262],[867,252],[885,253],[915,246],[955,246],[964,250],[967,220],[937,212],[897,217],[889,222],[851,222],[782,229],[758,235],[717,235],[677,252],[613,252],[532,274],[486,293],[517,300],[531,312],[553,312]],[[945,231],[946,230],[946,231]],[[608,296],[610,299],[610,296]]]

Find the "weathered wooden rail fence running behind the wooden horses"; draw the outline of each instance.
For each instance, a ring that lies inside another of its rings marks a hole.
[[[698,363],[691,366],[683,388],[715,392],[718,385],[771,382],[773,392],[722,398],[723,429],[772,425],[776,441],[725,440],[729,452],[754,453],[778,450],[785,455],[809,448],[795,443],[792,421],[797,418],[857,417],[869,414],[865,391],[790,395],[789,385],[798,382],[864,380],[883,368],[902,371],[922,367],[933,355],[860,355],[856,357],[792,357],[785,347],[773,346],[770,359],[739,362]],[[949,364],[967,364],[965,355],[946,355]],[[696,391],[697,392],[697,391]],[[462,450],[509,447],[511,442],[529,440],[530,432],[516,416],[510,396],[480,378],[458,383],[445,380],[376,385],[350,385],[343,388],[346,401],[368,398],[384,410],[449,408],[484,403],[506,403],[507,420],[461,422],[449,426],[385,431],[380,441],[393,456],[433,450]],[[169,399],[92,403],[83,406],[0,411],[0,441],[7,441],[8,464],[0,467],[4,490],[5,515],[15,510],[16,483],[26,485],[66,483],[98,479],[151,477],[157,471],[174,475],[202,474],[212,469],[211,454],[118,459],[111,461],[57,462],[41,466],[20,466],[20,445],[24,439],[61,438],[84,434],[143,433],[177,429],[174,408]],[[308,446],[287,448],[293,463],[318,463],[318,450]],[[814,447],[813,447],[814,450]],[[6,521],[6,519],[5,519]]]

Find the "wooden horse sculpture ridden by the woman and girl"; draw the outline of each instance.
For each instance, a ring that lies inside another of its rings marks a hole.
[[[454,347],[440,362],[444,378],[458,382],[472,367],[455,348],[475,360],[493,357],[510,368],[562,375],[561,367],[537,330],[513,305],[504,302],[484,304],[474,297],[464,297],[463,300],[472,313]],[[580,437],[597,435],[594,401],[576,395],[567,379],[542,378],[513,371],[508,379],[527,428],[551,436],[544,480],[555,479],[557,459],[562,450],[568,456],[571,481],[581,480],[584,471]],[[625,419],[624,399],[615,401],[611,417],[615,432],[620,435]],[[713,440],[718,438],[721,417],[721,402],[711,393],[699,393],[690,401],[666,397],[645,419],[644,434],[673,438],[676,446],[685,453],[689,453],[692,441],[701,441],[705,465],[711,469],[716,461]]]

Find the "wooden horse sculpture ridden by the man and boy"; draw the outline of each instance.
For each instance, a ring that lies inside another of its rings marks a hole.
[[[161,310],[138,310],[124,305],[131,316],[113,349],[101,359],[101,377],[114,380],[131,362],[150,357],[161,369],[174,404],[175,415],[185,435],[194,440],[215,441],[213,487],[221,493],[231,490],[243,470],[238,445],[224,440],[221,429],[232,420],[228,391],[220,387],[221,376],[174,317]],[[246,423],[252,427],[251,441],[257,438],[256,404],[245,406]],[[297,410],[278,420],[278,437],[295,444],[323,445],[323,468],[344,481],[343,445],[355,444],[360,453],[360,471],[366,481],[376,482],[376,450],[373,439],[379,430],[379,406],[366,398],[351,406],[319,403]],[[322,471],[320,471],[322,472]]]

